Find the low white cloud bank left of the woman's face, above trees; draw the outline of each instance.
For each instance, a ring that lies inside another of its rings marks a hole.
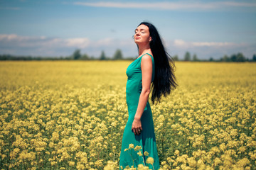
[[[102,50],[112,56],[121,49],[125,56],[136,54],[136,45],[133,40],[118,40],[104,38],[89,40],[88,38],[47,38],[46,36],[29,37],[16,34],[0,35],[0,54],[33,55],[33,56],[67,56],[75,49],[80,49],[88,55],[99,56]]]

